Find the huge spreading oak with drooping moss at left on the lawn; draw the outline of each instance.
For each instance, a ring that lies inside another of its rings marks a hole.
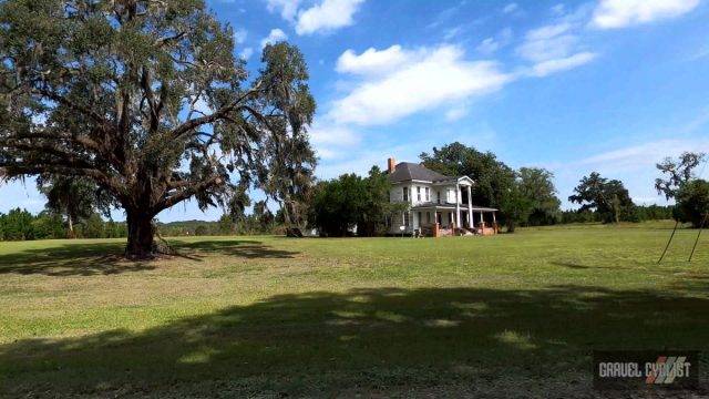
[[[0,58],[0,173],[92,180],[125,211],[132,257],[152,255],[161,211],[238,211],[276,143],[308,145],[301,53],[268,45],[249,78],[203,0],[3,1]]]

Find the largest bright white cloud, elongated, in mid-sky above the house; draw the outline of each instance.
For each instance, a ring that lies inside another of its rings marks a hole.
[[[467,61],[454,45],[412,52],[410,59],[383,76],[364,80],[328,114],[338,123],[373,125],[393,122],[415,112],[462,101],[501,89],[514,79],[496,62]]]

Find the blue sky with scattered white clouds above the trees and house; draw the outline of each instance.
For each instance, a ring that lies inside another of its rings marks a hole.
[[[305,54],[319,178],[384,168],[390,156],[419,162],[459,141],[513,167],[548,168],[565,208],[593,171],[623,181],[636,204],[664,204],[655,164],[709,153],[708,0],[208,6],[234,28],[235,54],[253,74],[268,42],[287,40]],[[31,178],[0,186],[0,212],[43,204]],[[191,202],[158,219],[220,214]]]

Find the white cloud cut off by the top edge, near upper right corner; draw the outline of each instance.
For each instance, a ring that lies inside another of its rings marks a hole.
[[[592,25],[617,29],[674,18],[693,10],[699,0],[602,0]]]

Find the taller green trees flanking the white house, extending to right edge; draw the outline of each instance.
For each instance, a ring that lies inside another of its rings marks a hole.
[[[685,153],[679,161],[671,158],[658,164],[667,178],[658,178],[656,188],[677,206],[636,205],[623,182],[603,177],[597,172],[582,177],[568,201],[577,209],[562,211],[554,185],[554,174],[541,167],[515,170],[492,152],[481,152],[455,142],[420,155],[430,170],[449,176],[469,176],[473,204],[500,209],[497,221],[513,233],[517,226],[543,226],[567,223],[619,223],[676,218],[699,226],[701,215],[709,207],[705,181],[697,180],[695,168],[703,154]],[[387,217],[402,212],[401,205],[390,204],[386,174],[373,167],[369,176],[345,174],[320,182],[310,204],[310,222],[323,235],[386,233]],[[705,209],[705,211],[701,211]]]

